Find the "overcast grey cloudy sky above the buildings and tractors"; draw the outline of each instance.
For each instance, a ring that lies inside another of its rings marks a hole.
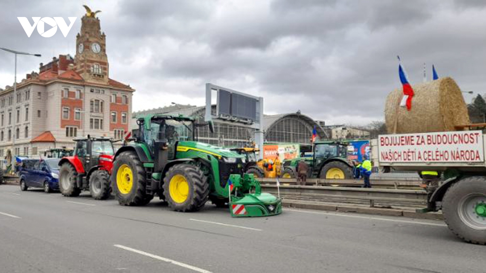
[[[85,3],[102,11],[110,78],[137,90],[134,111],[203,105],[210,82],[264,97],[266,114],[366,124],[384,119],[400,86],[397,54],[412,84],[434,63],[462,90],[486,93],[483,0],[0,0],[0,47],[42,54],[18,57],[20,78],[74,56]],[[29,38],[17,17],[78,18],[67,37]],[[0,51],[1,88],[13,71]]]

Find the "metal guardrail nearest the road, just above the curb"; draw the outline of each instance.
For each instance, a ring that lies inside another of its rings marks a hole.
[[[265,192],[278,194],[277,185],[261,184],[261,188]],[[423,206],[427,202],[425,190],[283,185],[279,191],[284,200],[369,204],[370,207],[378,204]]]

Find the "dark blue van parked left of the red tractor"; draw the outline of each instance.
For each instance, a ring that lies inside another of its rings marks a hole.
[[[59,189],[60,158],[24,159],[20,168],[20,189],[43,188],[45,192]]]

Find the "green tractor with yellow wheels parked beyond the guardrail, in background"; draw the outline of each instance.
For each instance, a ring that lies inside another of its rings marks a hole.
[[[345,142],[319,141],[313,146],[312,157],[304,157],[309,165],[307,177],[323,179],[352,179],[353,164],[347,159]],[[282,177],[294,178],[300,157],[282,162]]]

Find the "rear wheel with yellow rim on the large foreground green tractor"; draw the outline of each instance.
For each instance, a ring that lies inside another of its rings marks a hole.
[[[113,163],[111,188],[120,205],[147,205],[147,177],[143,164],[133,151],[121,153]],[[150,201],[149,201],[150,202]]]

